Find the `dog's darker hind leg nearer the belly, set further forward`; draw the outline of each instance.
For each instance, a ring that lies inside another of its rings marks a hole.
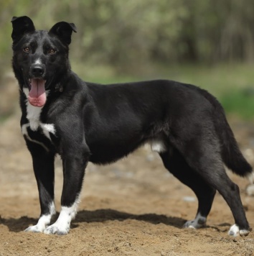
[[[200,175],[194,172],[176,149],[172,149],[171,152],[163,152],[160,156],[165,168],[182,183],[189,186],[197,196],[198,209],[196,217],[191,221],[187,221],[184,227],[196,229],[204,227],[215,197],[215,188],[209,186]]]

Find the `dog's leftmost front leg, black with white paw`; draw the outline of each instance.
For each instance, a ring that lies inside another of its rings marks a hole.
[[[29,146],[29,143],[27,143]],[[47,225],[50,224],[52,215],[55,214],[54,204],[54,160],[55,154],[46,152],[37,145],[32,145],[32,154],[34,175],[37,180],[39,190],[39,203],[41,214],[36,225],[25,229],[26,232],[44,232]],[[35,147],[38,149],[34,150]]]

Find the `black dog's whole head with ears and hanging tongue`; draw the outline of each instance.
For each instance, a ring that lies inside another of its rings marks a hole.
[[[68,51],[75,24],[58,22],[50,31],[36,30],[27,17],[11,19],[12,66],[21,90],[33,106],[44,106],[46,91],[55,91],[70,72]]]

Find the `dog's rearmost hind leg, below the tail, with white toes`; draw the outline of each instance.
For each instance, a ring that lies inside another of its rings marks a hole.
[[[238,186],[227,176],[216,137],[203,131],[198,138],[174,143],[174,147],[184,156],[190,168],[200,175],[210,187],[217,190],[230,206],[235,224],[230,228],[229,234],[232,236],[248,235],[250,226],[240,199],[240,191]]]

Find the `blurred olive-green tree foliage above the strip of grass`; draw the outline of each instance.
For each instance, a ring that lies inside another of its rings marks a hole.
[[[77,25],[72,56],[136,70],[154,62],[253,61],[253,0],[1,0],[0,37],[12,16],[32,17],[38,29],[66,20]],[[11,39],[1,40],[9,54]]]

